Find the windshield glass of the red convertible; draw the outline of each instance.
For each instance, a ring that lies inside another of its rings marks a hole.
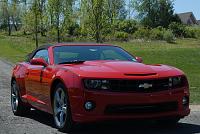
[[[126,51],[115,46],[58,46],[53,49],[54,63],[93,60],[121,60],[136,59]]]

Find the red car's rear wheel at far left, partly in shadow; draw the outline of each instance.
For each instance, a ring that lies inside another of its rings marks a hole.
[[[27,115],[30,112],[30,107],[26,106],[20,98],[19,86],[15,80],[11,82],[11,107],[16,116]]]

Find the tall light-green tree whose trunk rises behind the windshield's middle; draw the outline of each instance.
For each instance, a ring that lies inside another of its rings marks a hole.
[[[82,0],[83,18],[81,25],[91,33],[96,42],[103,42],[103,32],[108,26],[106,0]]]

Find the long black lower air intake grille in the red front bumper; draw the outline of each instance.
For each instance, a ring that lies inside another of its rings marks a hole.
[[[104,111],[105,114],[151,114],[177,111],[177,102],[166,102],[147,105],[108,105]]]

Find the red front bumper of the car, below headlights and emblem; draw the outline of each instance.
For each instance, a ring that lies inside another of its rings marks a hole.
[[[166,117],[179,117],[189,115],[189,105],[183,106],[182,100],[186,96],[189,98],[187,88],[179,88],[171,91],[157,93],[114,93],[105,91],[84,90],[84,97],[71,96],[72,118],[75,122],[98,122],[105,120],[132,120],[132,119],[157,119]],[[86,101],[95,103],[95,108],[87,111],[84,108]],[[177,108],[168,111],[156,111],[142,113],[111,113],[105,112],[110,105],[152,105],[175,102]]]

